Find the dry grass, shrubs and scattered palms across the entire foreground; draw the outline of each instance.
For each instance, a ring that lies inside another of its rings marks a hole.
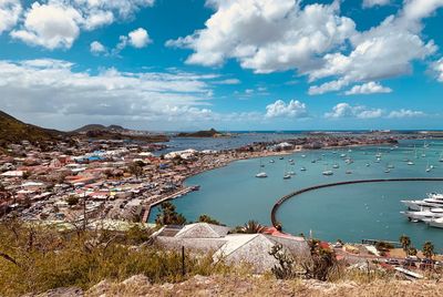
[[[198,221],[219,224],[207,215],[202,215]],[[171,203],[162,205],[156,221],[157,227],[184,224],[185,222],[185,217],[177,214],[175,206]],[[233,232],[254,234],[259,233],[262,228],[259,223],[249,221]],[[106,280],[109,286],[105,289],[111,296],[131,296],[135,295],[135,288],[128,287],[128,283],[122,281],[132,276],[142,277],[136,278],[140,284],[134,284],[134,286],[140,287],[143,294],[150,295],[158,295],[158,291],[161,293],[164,288],[162,284],[165,283],[182,283],[183,286],[179,288],[184,293],[182,296],[194,295],[190,294],[192,286],[199,286],[195,284],[196,279],[198,283],[202,276],[207,276],[208,278],[205,278],[207,281],[205,280],[204,284],[205,290],[208,289],[208,291],[203,293],[202,296],[218,293],[229,295],[229,289],[223,287],[220,291],[213,291],[208,284],[226,285],[229,288],[229,281],[236,283],[235,279],[243,281],[245,289],[247,286],[255,288],[255,290],[246,289],[245,293],[249,296],[255,294],[285,295],[288,294],[288,290],[291,294],[302,291],[306,293],[305,296],[321,296],[316,288],[312,290],[309,286],[306,287],[307,284],[310,284],[307,281],[327,281],[321,284],[343,281],[380,284],[382,281],[384,288],[389,286],[387,284],[395,281],[396,278],[393,272],[380,269],[370,263],[363,268],[349,267],[343,262],[337,260],[333,249],[326,247],[319,240],[309,239],[310,255],[303,257],[288,253],[281,245],[275,245],[268,253],[276,259],[276,265],[270,272],[259,276],[261,280],[257,280],[256,277],[251,277],[253,269],[248,264],[234,266],[227,265],[223,260],[214,263],[210,253],[200,255],[186,250],[183,255],[182,252],[165,250],[155,245],[151,237],[152,233],[152,229],[143,228],[137,224],[125,232],[116,232],[91,231],[85,229],[84,226],[56,229],[53,226],[31,225],[17,219],[2,221],[0,222],[0,296],[20,296],[62,287],[90,289],[90,295],[95,296],[95,288],[91,289],[91,287],[103,280]],[[411,249],[409,237],[402,236],[400,240],[405,250]],[[423,254],[429,258],[432,257],[433,246],[431,243],[425,243]],[[436,269],[429,273],[437,284],[441,273]],[[226,283],[223,279],[226,279]],[[277,279],[279,280],[277,284],[286,286],[285,289],[279,290],[274,286]],[[121,284],[126,285],[122,287]],[[186,284],[189,285],[188,288],[186,288]],[[270,284],[270,290],[267,290],[267,286],[262,286],[262,284]],[[169,288],[174,288],[174,286],[172,285]],[[240,294],[234,285],[230,286],[230,289],[233,289],[230,295]],[[189,294],[186,295],[186,291]],[[373,290],[374,294],[377,291]],[[403,294],[404,288],[398,286],[384,296],[395,296],[395,291]],[[347,291],[339,289],[337,294],[339,293]],[[383,289],[379,293],[383,293]],[[96,296],[100,295],[96,293]],[[344,296],[352,295],[344,294]]]

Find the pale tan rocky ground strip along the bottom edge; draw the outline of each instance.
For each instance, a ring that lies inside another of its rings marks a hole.
[[[122,283],[101,281],[87,291],[60,288],[39,297],[74,296],[443,296],[440,281],[374,281],[371,284],[275,280],[270,277],[195,276],[178,284],[152,285],[145,276]]]

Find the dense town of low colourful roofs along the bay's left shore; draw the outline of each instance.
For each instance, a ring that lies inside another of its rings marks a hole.
[[[236,160],[395,142],[391,134],[316,134],[235,150],[162,154],[165,145],[123,140],[21,141],[8,144],[0,155],[0,215],[45,222],[147,222],[151,207],[198,190],[184,185],[187,177]]]

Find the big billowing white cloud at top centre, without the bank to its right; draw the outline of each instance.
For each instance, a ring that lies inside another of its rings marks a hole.
[[[257,73],[311,69],[317,58],[354,33],[339,1],[300,7],[295,0],[213,0],[206,28],[166,42],[194,50],[187,63],[219,65],[237,59]]]

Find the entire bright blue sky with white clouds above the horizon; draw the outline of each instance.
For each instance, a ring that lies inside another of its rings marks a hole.
[[[0,0],[0,110],[44,127],[443,129],[443,0]]]

